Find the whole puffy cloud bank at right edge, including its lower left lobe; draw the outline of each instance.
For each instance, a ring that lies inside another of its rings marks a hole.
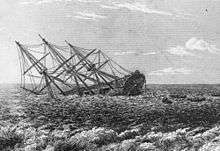
[[[171,47],[165,51],[172,55],[183,57],[198,56],[198,53],[196,53],[196,51],[218,53],[220,52],[220,49],[203,39],[192,37],[188,41],[186,41],[184,46]]]

